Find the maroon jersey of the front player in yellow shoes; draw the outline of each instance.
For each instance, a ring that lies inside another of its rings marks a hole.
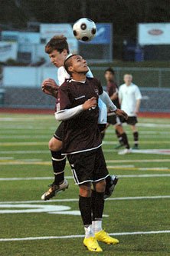
[[[98,101],[98,95],[102,93],[103,88],[96,78],[86,78],[85,83],[70,79],[58,90],[57,111],[82,105],[92,97],[96,97]],[[82,111],[76,117],[64,121],[64,154],[75,154],[100,147],[98,116],[97,105],[94,109]]]

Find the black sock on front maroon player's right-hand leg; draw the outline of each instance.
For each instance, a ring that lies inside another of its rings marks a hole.
[[[104,193],[92,191],[91,195],[93,221],[102,219],[104,209]]]

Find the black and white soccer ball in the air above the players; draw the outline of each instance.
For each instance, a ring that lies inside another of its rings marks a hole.
[[[73,32],[75,38],[88,42],[96,35],[96,24],[90,18],[80,18],[74,23]]]

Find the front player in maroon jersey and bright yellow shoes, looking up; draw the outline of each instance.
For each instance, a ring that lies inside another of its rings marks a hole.
[[[117,244],[102,228],[104,191],[109,173],[101,148],[98,128],[98,98],[103,88],[96,78],[87,78],[87,62],[80,55],[66,58],[64,67],[71,78],[58,89],[58,121],[64,121],[63,155],[67,155],[79,185],[79,208],[85,229],[83,244],[89,251],[103,251],[98,244]],[[127,118],[124,111],[115,110],[117,115]],[[91,189],[93,185],[93,190]]]

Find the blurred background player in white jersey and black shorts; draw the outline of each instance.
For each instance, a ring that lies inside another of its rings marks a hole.
[[[121,109],[126,111],[128,114],[128,119],[126,123],[132,128],[132,134],[134,139],[134,145],[132,149],[139,148],[139,132],[136,127],[137,115],[139,113],[140,102],[142,99],[141,92],[139,87],[132,83],[132,75],[124,75],[124,84],[119,86],[119,102]],[[119,155],[129,153],[130,150],[124,149],[119,151]]]

